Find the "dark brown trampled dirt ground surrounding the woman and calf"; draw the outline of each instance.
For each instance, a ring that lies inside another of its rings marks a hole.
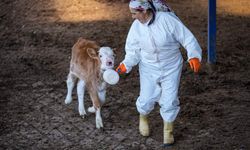
[[[207,65],[207,1],[168,0],[203,49],[203,66],[183,67],[174,150],[250,149],[250,2],[218,0],[217,63]],[[104,129],[64,104],[71,47],[79,37],[116,48],[132,22],[127,0],[0,1],[0,149],[162,149],[159,106],[151,136],[138,132],[138,71],[110,86]],[[183,57],[186,59],[185,51]],[[86,95],[86,107],[90,100]]]

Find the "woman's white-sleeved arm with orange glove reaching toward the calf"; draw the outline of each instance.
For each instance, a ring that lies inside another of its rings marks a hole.
[[[129,73],[133,66],[137,65],[140,61],[140,47],[136,39],[134,26],[132,25],[125,44],[125,58],[120,63],[116,71],[120,74]]]

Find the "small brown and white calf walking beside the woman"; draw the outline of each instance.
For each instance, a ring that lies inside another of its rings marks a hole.
[[[102,74],[114,67],[114,53],[110,47],[99,47],[96,42],[80,38],[72,48],[70,71],[67,78],[65,103],[72,101],[72,90],[77,82],[78,110],[80,116],[86,115],[84,93],[88,90],[92,100],[91,113],[96,113],[96,128],[103,127],[101,106],[105,102],[106,86]]]

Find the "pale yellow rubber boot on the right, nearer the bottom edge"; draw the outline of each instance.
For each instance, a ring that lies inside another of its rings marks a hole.
[[[165,122],[164,121],[164,128],[163,128],[163,146],[172,146],[174,144],[174,135],[173,135],[173,122]]]

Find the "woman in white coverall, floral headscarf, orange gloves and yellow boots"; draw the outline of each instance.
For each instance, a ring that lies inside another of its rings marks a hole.
[[[178,88],[182,72],[182,45],[190,67],[198,72],[202,50],[194,35],[172,12],[156,11],[152,2],[131,0],[132,18],[135,19],[127,36],[125,59],[117,67],[119,74],[128,73],[139,64],[140,96],[136,101],[140,113],[139,131],[149,136],[147,115],[160,105],[164,121],[163,143],[174,143],[173,122],[180,110]]]

